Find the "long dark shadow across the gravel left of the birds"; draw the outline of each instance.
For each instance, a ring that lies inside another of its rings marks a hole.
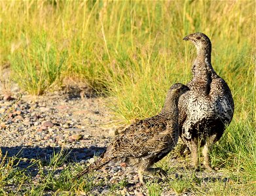
[[[54,156],[60,155],[65,163],[86,163],[86,160],[100,155],[105,151],[105,147],[90,146],[89,148],[61,148],[61,147],[31,147],[31,146],[14,146],[0,147],[2,157],[6,155],[6,163],[10,158],[14,159],[14,167],[24,170],[32,176],[37,175],[39,167],[36,161],[41,161],[43,165],[50,165],[54,161]],[[1,160],[0,157],[0,163]]]

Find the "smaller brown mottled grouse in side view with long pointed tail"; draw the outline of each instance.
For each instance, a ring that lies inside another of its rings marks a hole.
[[[144,181],[143,173],[165,174],[162,169],[151,168],[151,166],[167,155],[177,144],[179,138],[178,99],[187,90],[189,88],[183,84],[174,84],[168,91],[164,107],[158,115],[139,120],[128,126],[111,142],[95,163],[77,174],[74,179],[100,169],[109,161],[120,158],[125,158],[128,165],[137,169],[141,183]]]

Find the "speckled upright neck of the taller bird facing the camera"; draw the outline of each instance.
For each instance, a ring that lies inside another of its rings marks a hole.
[[[204,48],[196,48],[197,56],[192,66],[192,73],[194,78],[205,77],[215,74],[211,66],[211,46],[208,45]]]

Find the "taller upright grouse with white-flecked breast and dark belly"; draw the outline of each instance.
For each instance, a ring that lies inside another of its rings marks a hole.
[[[234,101],[229,86],[211,67],[211,41],[204,33],[184,37],[197,49],[192,65],[189,91],[179,98],[179,131],[192,154],[192,166],[199,168],[198,148],[204,146],[204,167],[210,166],[209,149],[219,140],[234,114]]]

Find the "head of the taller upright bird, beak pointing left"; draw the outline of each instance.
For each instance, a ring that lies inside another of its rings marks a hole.
[[[211,41],[204,33],[192,33],[183,40],[191,41],[197,50],[211,50]]]

